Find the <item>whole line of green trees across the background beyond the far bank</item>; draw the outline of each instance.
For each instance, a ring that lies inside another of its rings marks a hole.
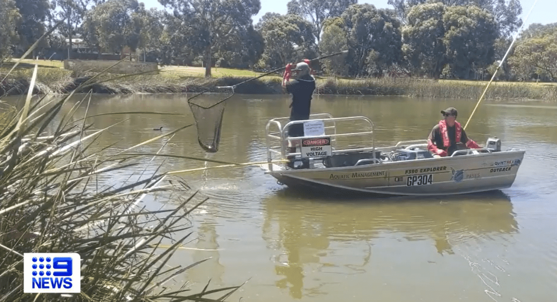
[[[36,51],[65,54],[72,47],[66,38],[81,34],[99,53],[129,47],[141,51],[140,60],[203,64],[211,76],[212,66],[268,70],[348,50],[312,68],[380,77],[402,66],[418,76],[471,79],[495,71],[522,24],[519,0],[389,0],[393,9],[357,0],[289,0],[287,14],[267,13],[256,26],[260,0],[158,0],[164,10],[139,1],[0,0],[0,61],[21,55],[47,22],[65,19]],[[554,80],[555,24],[522,32],[499,78]]]

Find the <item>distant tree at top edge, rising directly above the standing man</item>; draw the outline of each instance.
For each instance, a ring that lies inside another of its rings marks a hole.
[[[346,8],[358,0],[291,0],[286,4],[289,14],[297,14],[308,19],[315,26],[314,35],[320,41],[324,21],[338,17]]]

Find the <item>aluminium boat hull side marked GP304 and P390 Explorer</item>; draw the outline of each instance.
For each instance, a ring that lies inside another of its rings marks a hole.
[[[289,187],[338,194],[433,196],[506,189],[515,181],[524,150],[403,160],[315,169],[284,169],[267,174]]]

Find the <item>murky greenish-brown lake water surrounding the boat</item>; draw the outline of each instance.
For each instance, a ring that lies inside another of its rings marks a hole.
[[[141,151],[265,160],[265,123],[289,115],[288,105],[286,96],[231,98],[216,154],[199,148],[194,128]],[[312,112],[368,116],[375,122],[376,144],[390,145],[426,137],[441,118],[439,111],[449,106],[465,124],[475,101],[320,96]],[[181,95],[95,96],[89,108],[90,115],[123,111],[186,116],[92,118],[99,128],[121,122],[97,147],[119,142],[111,152],[119,151],[160,135],[153,128],[168,132],[193,121]],[[212,259],[169,286],[189,280],[190,288],[199,290],[209,279],[213,288],[249,279],[228,299],[243,302],[555,301],[556,123],[553,103],[482,103],[468,136],[481,144],[498,136],[503,148],[527,150],[514,185],[495,194],[334,200],[291,191],[258,167],[180,175],[210,199],[191,217],[196,239],[178,251],[172,265]],[[166,171],[214,165],[182,159],[152,163],[158,164]],[[139,170],[129,171],[134,172]]]

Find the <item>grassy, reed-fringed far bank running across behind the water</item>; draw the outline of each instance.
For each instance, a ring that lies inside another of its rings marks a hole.
[[[31,70],[18,70],[0,83],[0,95],[23,95],[27,93]],[[71,71],[62,68],[39,68],[35,93],[66,93],[89,80],[92,75],[72,77]],[[231,86],[252,78],[251,76],[226,76],[203,78],[160,71],[155,75],[139,75],[125,78],[104,75],[97,83],[80,92],[93,93],[196,93],[201,91],[223,92],[229,90],[218,86]],[[2,76],[3,78],[3,76]],[[480,98],[487,81],[425,80],[417,78],[370,78],[348,80],[344,78],[317,78],[317,94],[322,95],[377,95],[439,98]],[[280,94],[281,77],[267,76],[250,81],[236,88],[236,93]],[[485,98],[557,101],[555,83],[492,82]]]

